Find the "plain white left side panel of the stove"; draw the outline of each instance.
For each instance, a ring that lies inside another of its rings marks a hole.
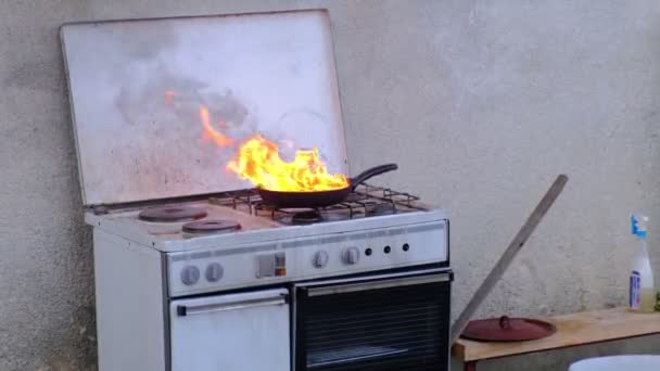
[[[161,254],[94,229],[100,371],[166,370]]]

